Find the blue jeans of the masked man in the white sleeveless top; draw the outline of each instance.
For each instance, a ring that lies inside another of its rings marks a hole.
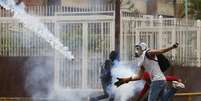
[[[165,86],[166,86],[165,80],[152,81],[150,85],[148,101],[157,101],[160,94],[164,94]],[[161,97],[161,101],[166,101],[163,97],[165,96]]]

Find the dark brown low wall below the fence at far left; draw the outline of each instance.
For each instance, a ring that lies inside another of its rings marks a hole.
[[[36,60],[39,64],[50,57],[0,57],[0,97],[29,97],[28,90],[25,89],[25,80],[31,68],[27,65],[29,59]],[[53,62],[48,64],[53,71]],[[26,66],[25,66],[26,64]],[[53,74],[52,74],[53,75]],[[51,76],[50,78],[53,78]],[[44,81],[47,82],[47,81]],[[52,82],[52,81],[51,81]],[[34,85],[33,85],[34,87]],[[47,88],[42,89],[44,92]]]

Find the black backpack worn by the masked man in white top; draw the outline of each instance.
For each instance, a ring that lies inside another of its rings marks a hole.
[[[156,55],[158,60],[155,60],[155,59],[151,58],[151,57],[147,54],[147,52],[146,52],[145,55],[146,55],[146,57],[149,58],[150,60],[157,61],[162,72],[165,72],[168,68],[171,67],[170,61],[169,61],[163,54],[158,54],[158,55]]]

